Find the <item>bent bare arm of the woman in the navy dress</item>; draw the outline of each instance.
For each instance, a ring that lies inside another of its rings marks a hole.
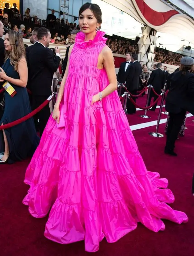
[[[26,59],[23,57],[21,60],[18,62],[18,73],[19,73],[19,79],[15,79],[12,77],[8,77],[6,73],[3,71],[2,68],[0,72],[0,78],[3,80],[7,80],[10,83],[13,83],[13,85],[17,85],[20,87],[26,87],[27,82],[28,82],[28,67],[27,67],[27,62]]]

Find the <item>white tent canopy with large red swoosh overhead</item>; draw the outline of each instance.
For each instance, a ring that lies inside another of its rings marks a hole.
[[[103,0],[106,3],[126,12],[140,23],[159,32],[168,33],[194,43],[194,21],[176,10],[164,0]],[[177,7],[186,4],[190,13],[194,10],[185,2],[189,0],[171,0]],[[187,12],[188,13],[188,12]],[[191,15],[191,14],[190,14]]]

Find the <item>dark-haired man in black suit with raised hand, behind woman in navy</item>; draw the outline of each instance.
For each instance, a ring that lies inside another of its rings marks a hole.
[[[51,94],[51,85],[54,72],[57,71],[60,58],[60,49],[56,47],[56,56],[49,48],[51,33],[46,28],[38,30],[38,43],[34,44],[33,49],[28,55],[30,88],[33,97],[33,109],[40,106]],[[45,106],[34,119],[39,119],[40,136],[50,117],[49,105]],[[35,121],[36,122],[36,121]]]

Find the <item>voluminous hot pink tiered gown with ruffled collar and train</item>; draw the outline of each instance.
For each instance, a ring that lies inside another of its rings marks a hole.
[[[45,237],[69,244],[85,240],[96,252],[105,237],[114,243],[140,221],[158,232],[162,218],[187,221],[173,210],[168,181],[146,170],[117,91],[91,106],[92,96],[108,84],[98,57],[104,32],[84,41],[78,33],[61,102],[60,124],[50,117],[25,174],[30,185],[23,203],[36,218],[49,219]]]

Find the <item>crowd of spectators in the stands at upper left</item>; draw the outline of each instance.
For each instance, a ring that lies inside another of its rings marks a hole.
[[[54,14],[55,11],[52,10],[46,20],[40,20],[37,16],[30,15],[30,8],[27,8],[22,15],[19,13],[16,3],[13,3],[13,7],[9,6],[9,3],[5,3],[5,8],[0,13],[0,20],[4,25],[4,35],[9,30],[14,30],[19,32],[23,38],[30,39],[34,27],[47,27],[52,31],[52,43],[67,45],[71,31],[80,29],[79,25],[70,23],[68,20],[57,19]]]

